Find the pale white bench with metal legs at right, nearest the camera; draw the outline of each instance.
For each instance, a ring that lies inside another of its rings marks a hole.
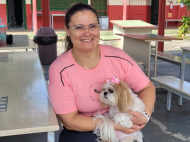
[[[168,91],[166,105],[167,110],[170,110],[171,108],[172,93],[178,95],[179,97],[190,100],[189,82],[183,81],[174,76],[151,77],[151,80],[155,86],[166,89]],[[178,105],[182,105],[182,102],[180,102],[180,100],[178,100]]]

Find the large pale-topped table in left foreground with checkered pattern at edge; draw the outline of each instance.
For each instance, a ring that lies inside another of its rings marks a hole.
[[[38,53],[0,53],[0,137],[59,130]]]

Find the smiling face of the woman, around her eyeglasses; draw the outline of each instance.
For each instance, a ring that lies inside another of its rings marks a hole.
[[[90,10],[83,10],[75,13],[69,22],[69,28],[65,28],[67,36],[70,37],[73,48],[77,51],[91,51],[98,47],[100,39],[100,31],[89,30],[92,24],[98,24],[96,15]],[[84,32],[79,32],[77,26],[83,26]],[[75,28],[72,28],[75,27]]]

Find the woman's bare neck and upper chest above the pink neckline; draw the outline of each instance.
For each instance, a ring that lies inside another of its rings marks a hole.
[[[95,68],[98,65],[101,58],[99,47],[96,48],[94,51],[90,52],[80,52],[73,48],[71,53],[76,63],[85,69]]]

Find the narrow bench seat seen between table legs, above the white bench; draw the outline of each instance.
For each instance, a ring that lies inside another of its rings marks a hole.
[[[151,56],[155,57],[155,50],[151,51]],[[181,66],[181,57],[179,56],[158,51],[157,59]],[[186,59],[185,63],[190,64],[190,59]]]

